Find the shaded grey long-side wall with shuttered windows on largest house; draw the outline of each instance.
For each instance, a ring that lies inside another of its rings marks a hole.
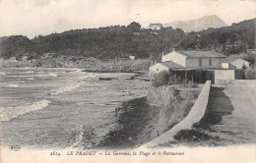
[[[202,58],[202,67],[199,66],[199,58],[187,58],[187,68],[220,68],[221,59],[212,58],[212,66],[209,66],[209,58]]]

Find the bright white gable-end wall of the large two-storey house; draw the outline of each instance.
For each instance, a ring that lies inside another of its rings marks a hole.
[[[172,61],[176,64],[186,67],[186,57],[175,51],[172,51],[161,57],[161,62]]]

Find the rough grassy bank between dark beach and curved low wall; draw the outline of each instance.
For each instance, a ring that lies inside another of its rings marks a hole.
[[[180,88],[176,85],[150,87],[147,103],[159,106],[160,110],[152,135],[159,136],[182,121],[189,113],[200,91],[201,88]]]

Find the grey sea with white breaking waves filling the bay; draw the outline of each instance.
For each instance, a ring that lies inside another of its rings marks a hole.
[[[117,107],[146,96],[149,82],[129,80],[134,75],[77,68],[1,68],[2,144],[93,148],[118,126]]]

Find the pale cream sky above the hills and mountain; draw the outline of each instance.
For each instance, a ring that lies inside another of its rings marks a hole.
[[[217,15],[226,25],[256,18],[256,0],[0,0],[0,36],[30,38],[76,28],[188,21]]]

